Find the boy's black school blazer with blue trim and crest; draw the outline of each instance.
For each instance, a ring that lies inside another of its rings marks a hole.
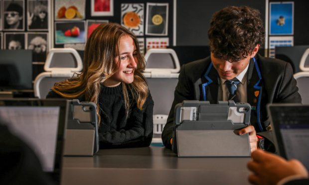
[[[183,100],[207,100],[217,103],[219,76],[210,57],[185,64],[180,69],[174,100],[162,132],[165,147],[171,148],[174,107]],[[282,60],[257,54],[250,60],[247,71],[247,102],[252,106],[250,122],[259,133],[270,140],[267,103],[301,103],[291,65]]]

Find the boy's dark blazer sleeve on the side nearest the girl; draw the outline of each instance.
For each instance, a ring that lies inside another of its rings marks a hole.
[[[174,108],[177,103],[181,103],[183,100],[193,99],[193,84],[189,83],[189,79],[186,75],[186,65],[183,65],[180,69],[180,74],[178,77],[178,83],[174,92],[174,100],[171,105],[166,124],[162,132],[163,145],[166,148],[171,149],[170,139],[173,135],[174,128]]]

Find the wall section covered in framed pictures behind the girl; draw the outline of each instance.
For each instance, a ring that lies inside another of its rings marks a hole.
[[[120,2],[121,1],[121,2]],[[173,42],[174,0],[0,0],[0,48],[33,50],[33,79],[49,48],[84,49],[102,23],[135,33],[142,53]]]

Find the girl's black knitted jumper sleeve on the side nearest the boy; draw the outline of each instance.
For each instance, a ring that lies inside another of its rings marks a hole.
[[[154,101],[149,93],[143,110],[131,109],[126,128],[99,132],[100,149],[149,146],[153,138],[153,108]]]

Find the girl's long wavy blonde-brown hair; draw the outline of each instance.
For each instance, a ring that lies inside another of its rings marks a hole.
[[[122,36],[130,36],[136,45],[137,69],[134,71],[134,81],[131,84],[122,83],[125,107],[127,113],[131,103],[129,93],[136,100],[137,107],[142,110],[147,99],[149,90],[143,71],[145,70],[145,59],[140,52],[137,37],[125,27],[117,23],[106,23],[98,26],[87,40],[84,55],[84,67],[76,78],[58,82],[52,91],[68,98],[74,99],[85,94],[85,101],[92,101],[97,105],[98,123],[100,124],[100,106],[98,98],[103,82],[110,78],[119,68],[120,62],[116,63],[119,57],[119,41]],[[104,105],[103,105],[104,106]]]

